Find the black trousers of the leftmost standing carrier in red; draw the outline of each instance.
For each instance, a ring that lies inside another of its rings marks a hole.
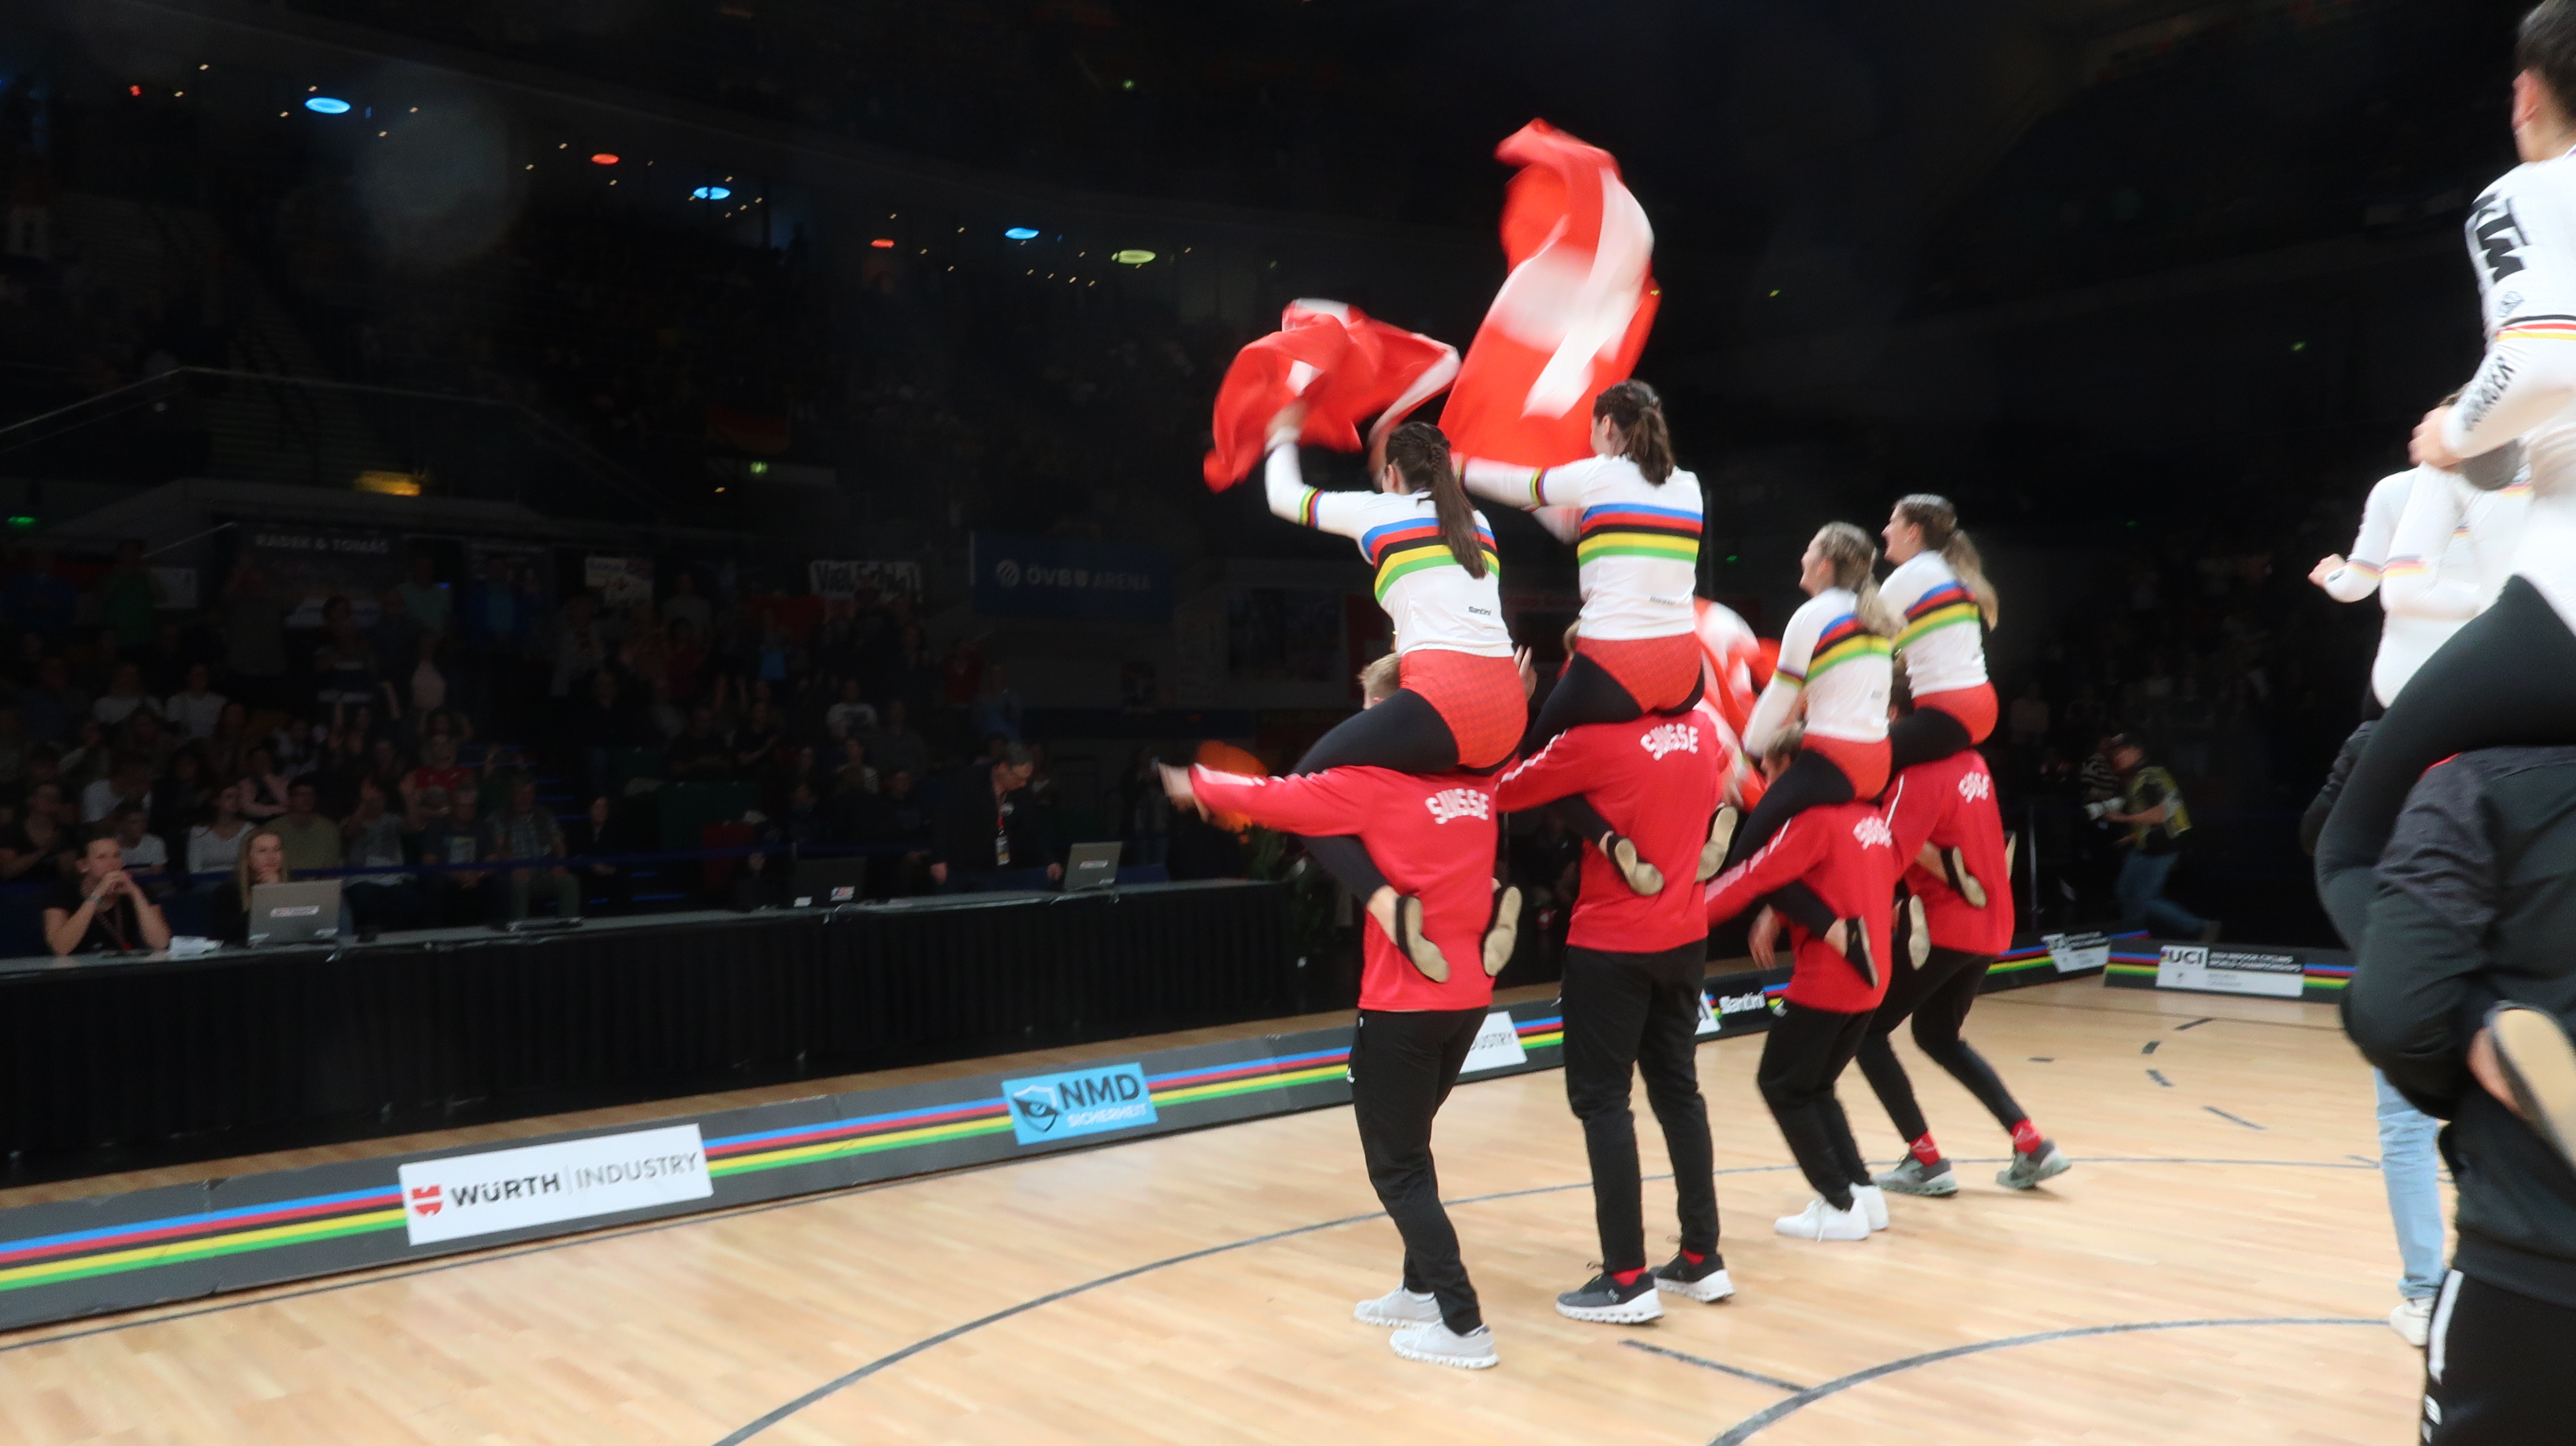
[[[1484,1325],[1484,1317],[1458,1258],[1458,1229],[1440,1209],[1432,1116],[1458,1083],[1484,1016],[1484,1008],[1360,1010],[1360,1028],[1350,1036],[1350,1113],[1360,1126],[1368,1183],[1404,1240],[1404,1289],[1437,1297],[1440,1320],[1458,1335]]]

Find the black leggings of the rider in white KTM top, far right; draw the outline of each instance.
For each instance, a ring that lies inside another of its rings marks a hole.
[[[2576,742],[2576,634],[2522,577],[2468,619],[2388,704],[2316,838],[2316,897],[2352,949],[2406,794],[2473,747]]]

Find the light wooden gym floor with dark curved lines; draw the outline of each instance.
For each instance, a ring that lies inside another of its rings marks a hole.
[[[0,1441],[2414,1441],[2331,1008],[2081,979],[1991,995],[1968,1036],[2076,1168],[1996,1188],[2002,1132],[1901,1044],[1965,1188],[1852,1245],[1770,1232],[1806,1188],[1762,1041],[1703,1046],[1739,1294],[1649,1327],[1553,1312],[1597,1253],[1561,1075],[1463,1085],[1437,1152],[1494,1371],[1350,1320],[1399,1248],[1347,1111],[1314,1111],[0,1335]],[[1669,1186],[1646,1209],[1667,1250]]]

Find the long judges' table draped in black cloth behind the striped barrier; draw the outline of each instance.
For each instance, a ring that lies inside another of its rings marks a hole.
[[[1288,889],[1244,882],[10,959],[0,1150],[41,1181],[1298,1005]]]

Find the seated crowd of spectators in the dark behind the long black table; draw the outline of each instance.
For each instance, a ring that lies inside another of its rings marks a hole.
[[[672,564],[649,603],[544,606],[502,567],[435,570],[289,629],[250,557],[201,611],[165,606],[137,541],[10,557],[0,951],[39,918],[57,951],[162,912],[240,941],[250,887],[314,874],[358,933],[775,905],[827,856],[866,858],[876,897],[1059,874],[1059,778],[1007,670],[974,639],[933,655],[902,593]]]

